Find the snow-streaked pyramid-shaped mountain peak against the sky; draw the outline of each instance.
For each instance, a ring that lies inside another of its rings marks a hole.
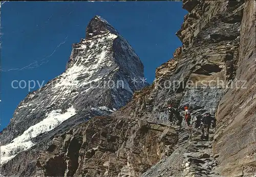
[[[61,129],[68,129],[121,108],[135,90],[147,85],[143,78],[143,64],[131,45],[95,16],[86,39],[73,44],[66,71],[29,93],[16,108],[0,137],[1,164],[34,146],[38,137],[47,139],[61,123]],[[74,116],[78,114],[82,116]]]

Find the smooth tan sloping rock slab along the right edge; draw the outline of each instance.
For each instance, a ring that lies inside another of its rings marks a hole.
[[[224,176],[255,176],[255,1],[246,1],[236,79],[221,99],[216,118],[216,171]]]

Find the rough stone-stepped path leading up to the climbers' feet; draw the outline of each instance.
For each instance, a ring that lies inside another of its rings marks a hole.
[[[179,140],[173,153],[141,176],[220,176],[212,172],[217,166],[217,161],[212,157],[212,141],[215,130],[210,129],[209,141],[206,141],[201,139],[201,129],[187,127],[185,122],[181,126],[172,125],[172,128],[179,134]]]

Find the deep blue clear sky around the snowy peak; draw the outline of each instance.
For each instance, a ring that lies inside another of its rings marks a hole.
[[[72,44],[85,37],[99,15],[129,41],[144,64],[147,81],[181,45],[175,33],[187,13],[181,2],[6,2],[1,8],[1,130],[28,88],[12,81],[45,84],[65,71]],[[37,89],[35,87],[34,89]]]

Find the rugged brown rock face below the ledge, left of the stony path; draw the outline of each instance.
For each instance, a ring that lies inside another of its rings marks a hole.
[[[175,129],[166,125],[129,117],[95,117],[55,136],[38,156],[36,175],[138,176],[172,154],[177,138]]]

